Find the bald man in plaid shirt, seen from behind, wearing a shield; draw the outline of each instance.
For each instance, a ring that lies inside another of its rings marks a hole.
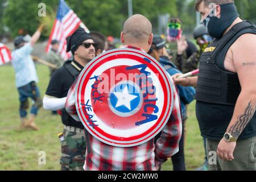
[[[133,15],[126,20],[121,33],[123,48],[133,48],[144,53],[148,52],[152,44],[153,34],[150,21],[142,15]],[[172,81],[172,79],[170,79]],[[101,142],[88,132],[86,137],[86,171],[152,171],[167,161],[179,151],[181,137],[181,114],[179,97],[174,82],[174,106],[171,119],[162,130],[162,136],[154,145],[154,138],[133,147],[117,147]],[[75,86],[72,86],[75,88]],[[72,98],[73,90],[69,90]],[[66,103],[66,110],[74,118],[79,118],[73,110],[75,101]],[[68,106],[67,106],[68,105]],[[75,113],[75,115],[74,115]]]

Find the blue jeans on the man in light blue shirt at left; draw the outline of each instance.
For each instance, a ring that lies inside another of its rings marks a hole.
[[[34,115],[38,114],[38,109],[42,106],[42,99],[40,97],[38,86],[36,86],[35,82],[30,82],[29,84],[18,88],[18,92],[19,92],[19,101],[20,101],[20,108],[19,108],[20,118],[27,117],[27,109],[29,107],[29,104],[28,104],[29,97],[34,101],[34,104],[31,107],[30,113]]]

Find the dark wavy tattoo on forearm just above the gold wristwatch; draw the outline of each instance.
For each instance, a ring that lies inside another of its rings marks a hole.
[[[250,122],[255,113],[256,107],[249,102],[245,109],[245,113],[237,117],[237,121],[232,125],[228,131],[234,138],[238,138],[245,129],[246,125]]]

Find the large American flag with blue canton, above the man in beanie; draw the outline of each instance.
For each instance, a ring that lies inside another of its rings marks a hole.
[[[57,10],[57,16],[53,24],[51,35],[48,40],[46,52],[51,50],[52,40],[58,40],[60,43],[59,53],[64,60],[69,59],[72,54],[66,52],[67,42],[66,38],[73,34],[76,29],[81,26],[86,32],[89,32],[88,28],[81,22],[79,17],[74,13],[72,9],[65,3],[64,0],[59,1],[59,9]]]

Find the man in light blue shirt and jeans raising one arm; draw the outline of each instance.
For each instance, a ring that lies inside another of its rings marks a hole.
[[[15,71],[16,88],[19,93],[19,115],[22,122],[21,127],[23,129],[39,129],[35,124],[35,117],[38,114],[39,108],[42,106],[42,98],[40,97],[39,88],[36,86],[38,75],[30,53],[33,50],[33,46],[40,38],[43,28],[44,25],[41,24],[32,36],[30,42],[28,42],[24,36],[17,36],[14,40],[15,50],[11,54],[11,63],[13,64]],[[30,111],[30,118],[27,119],[29,97],[32,98],[34,104]]]

